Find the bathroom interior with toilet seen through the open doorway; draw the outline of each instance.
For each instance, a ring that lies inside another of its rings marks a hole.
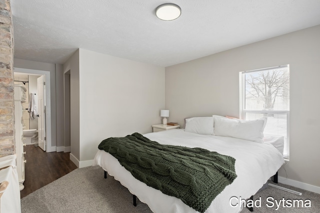
[[[37,78],[40,75],[29,75],[25,73],[14,72],[14,84],[20,84],[25,87],[26,98],[25,102],[22,103],[23,113],[22,113],[22,127],[23,127],[23,143],[25,145],[38,145],[38,117],[36,114],[30,116],[28,112],[29,101],[31,94],[33,94],[33,100],[35,106],[35,112],[38,109],[37,94]]]

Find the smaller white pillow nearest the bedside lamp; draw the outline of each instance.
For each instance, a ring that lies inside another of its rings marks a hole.
[[[201,135],[213,135],[213,117],[186,118],[184,131]]]

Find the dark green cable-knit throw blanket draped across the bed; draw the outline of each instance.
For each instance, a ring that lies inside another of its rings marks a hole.
[[[236,178],[230,156],[161,145],[139,133],[105,139],[98,148],[118,159],[134,178],[201,213]]]

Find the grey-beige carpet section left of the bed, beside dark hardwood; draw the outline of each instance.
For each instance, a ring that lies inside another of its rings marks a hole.
[[[151,213],[101,167],[76,169],[21,199],[22,213]]]

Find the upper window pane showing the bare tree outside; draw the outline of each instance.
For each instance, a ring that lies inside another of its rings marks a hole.
[[[288,110],[289,72],[286,68],[245,74],[245,108]]]

